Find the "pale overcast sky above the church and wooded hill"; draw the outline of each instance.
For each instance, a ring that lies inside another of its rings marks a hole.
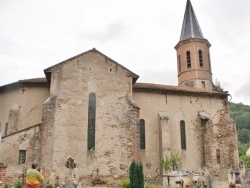
[[[210,48],[213,80],[250,105],[250,1],[191,0]],[[186,0],[0,0],[0,85],[96,48],[137,82],[177,85]]]

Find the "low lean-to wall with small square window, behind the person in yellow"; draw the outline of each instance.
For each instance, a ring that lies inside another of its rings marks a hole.
[[[2,138],[0,159],[8,164],[5,176],[8,184],[23,178],[27,168],[39,161],[40,135],[40,124],[38,124]],[[19,163],[20,150],[26,151],[26,161],[22,163]]]

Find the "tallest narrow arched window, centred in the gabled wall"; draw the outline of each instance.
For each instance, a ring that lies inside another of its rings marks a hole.
[[[96,111],[96,95],[89,94],[88,109],[88,150],[95,150],[95,111]]]

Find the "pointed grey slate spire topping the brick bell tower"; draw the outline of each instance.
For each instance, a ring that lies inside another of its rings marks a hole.
[[[190,0],[187,0],[180,41],[190,38],[204,39],[192,4]]]

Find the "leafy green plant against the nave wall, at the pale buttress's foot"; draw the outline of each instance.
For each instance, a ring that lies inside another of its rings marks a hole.
[[[181,157],[179,156],[179,153],[172,151],[162,159],[161,165],[165,171],[178,169],[181,165]]]

